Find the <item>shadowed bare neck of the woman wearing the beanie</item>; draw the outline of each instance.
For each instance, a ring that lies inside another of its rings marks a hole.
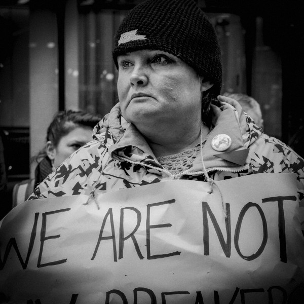
[[[153,130],[154,132],[151,132]],[[162,129],[139,130],[147,140],[150,148],[156,157],[167,156],[181,153],[195,147],[208,135],[209,128],[201,122],[194,126],[179,126],[177,129],[172,127]]]

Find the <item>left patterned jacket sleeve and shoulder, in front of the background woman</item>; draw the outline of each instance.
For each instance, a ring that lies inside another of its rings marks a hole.
[[[98,141],[87,143],[67,158],[41,182],[28,200],[89,195],[102,168],[105,147]]]

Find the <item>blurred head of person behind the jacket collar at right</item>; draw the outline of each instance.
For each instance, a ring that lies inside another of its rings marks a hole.
[[[261,108],[254,98],[242,93],[224,93],[222,95],[238,101],[243,110],[253,119],[255,124],[263,128],[264,121]]]

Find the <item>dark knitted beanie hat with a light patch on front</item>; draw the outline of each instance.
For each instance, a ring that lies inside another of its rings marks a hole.
[[[215,30],[193,0],[147,0],[131,10],[115,37],[113,59],[138,50],[175,55],[220,93],[222,68]]]

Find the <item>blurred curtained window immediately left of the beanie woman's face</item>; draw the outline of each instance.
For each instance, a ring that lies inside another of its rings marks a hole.
[[[80,15],[80,108],[104,116],[118,102],[117,69],[112,60],[113,36],[126,10]]]

